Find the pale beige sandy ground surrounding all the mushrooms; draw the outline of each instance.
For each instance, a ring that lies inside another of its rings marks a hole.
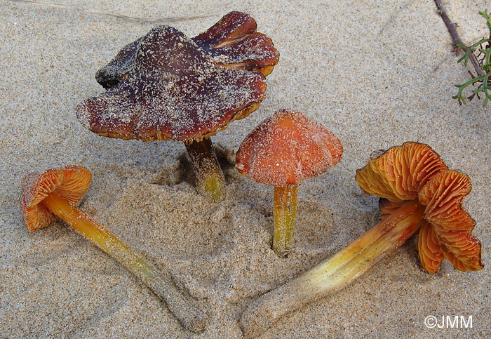
[[[241,338],[238,319],[247,305],[377,222],[377,199],[361,192],[354,173],[374,150],[412,140],[470,176],[465,207],[476,220],[484,270],[463,273],[445,261],[427,274],[410,239],[264,338],[489,338],[491,108],[451,98],[469,74],[456,63],[433,1],[57,2],[153,18],[216,9],[170,23],[189,36],[244,11],[273,39],[281,60],[260,109],[213,138],[228,198],[210,204],[194,190],[181,143],[103,138],[76,119],[75,105],[103,91],[97,69],[152,25],[0,1],[0,337]],[[445,1],[464,41],[485,35],[477,12],[486,4]],[[297,247],[286,259],[270,248],[272,188],[233,165],[245,135],[283,107],[328,126],[344,145],[337,166],[300,187]],[[20,180],[67,164],[93,172],[83,210],[170,270],[210,315],[206,331],[184,331],[149,288],[64,222],[27,232]],[[471,316],[472,328],[426,328],[429,315]]]

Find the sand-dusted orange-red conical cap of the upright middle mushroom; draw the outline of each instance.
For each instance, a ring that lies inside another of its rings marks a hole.
[[[301,112],[282,109],[245,137],[236,168],[262,184],[297,185],[337,164],[342,152],[341,142],[328,128]]]

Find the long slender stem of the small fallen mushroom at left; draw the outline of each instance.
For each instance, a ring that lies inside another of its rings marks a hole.
[[[123,241],[100,225],[99,222],[90,218],[78,207],[70,204],[60,194],[56,192],[49,193],[41,201],[41,204],[140,278],[166,303],[170,312],[179,319],[182,326],[193,332],[203,330],[206,324],[205,314],[184,298],[184,295],[175,287],[168,274],[163,274],[156,270],[156,267],[147,258],[144,258],[133,248],[124,244]]]

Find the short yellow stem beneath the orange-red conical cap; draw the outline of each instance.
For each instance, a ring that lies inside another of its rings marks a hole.
[[[274,187],[273,250],[280,257],[290,253],[295,244],[298,185]]]

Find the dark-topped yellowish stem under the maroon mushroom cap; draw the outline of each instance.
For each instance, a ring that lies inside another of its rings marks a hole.
[[[185,145],[193,164],[196,189],[199,194],[213,202],[224,200],[227,193],[225,178],[218,164],[211,139],[203,138],[201,141],[185,142]]]

